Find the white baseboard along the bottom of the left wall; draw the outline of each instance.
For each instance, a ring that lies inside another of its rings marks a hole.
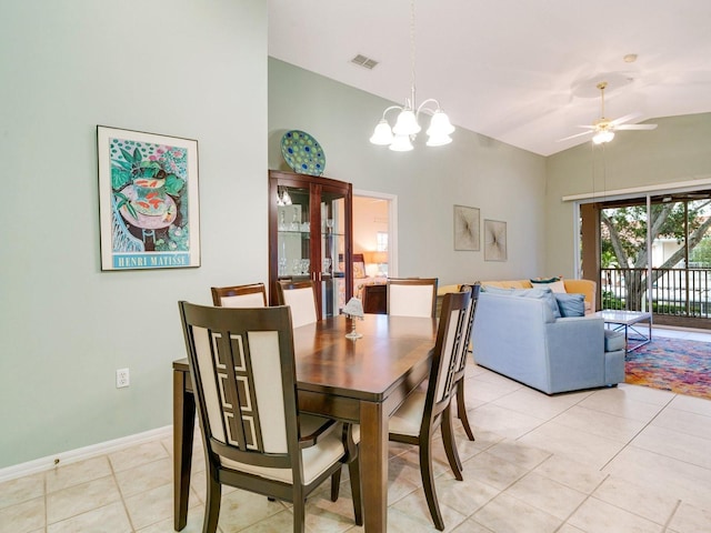
[[[100,442],[90,446],[79,447],[77,450],[70,450],[56,455],[49,455],[47,457],[36,459],[34,461],[28,461],[27,463],[0,469],[0,483],[22,477],[24,475],[52,470],[56,466],[84,461],[87,459],[96,457],[97,455],[113,453],[126,447],[154,441],[156,439],[163,439],[172,435],[172,432],[173,426],[166,425],[164,428],[158,428],[143,433],[136,433],[134,435],[122,436],[121,439],[116,439],[113,441]]]

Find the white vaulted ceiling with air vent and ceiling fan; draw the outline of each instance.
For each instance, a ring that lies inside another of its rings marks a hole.
[[[543,155],[590,142],[559,140],[600,118],[599,81],[609,119],[711,111],[711,1],[417,0],[414,10],[412,47],[409,0],[269,0],[269,54],[403,103],[414,49],[418,103],[435,98],[455,125]],[[357,54],[378,64],[357,66]]]

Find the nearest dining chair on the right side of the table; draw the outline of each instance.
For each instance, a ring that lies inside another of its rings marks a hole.
[[[417,388],[390,418],[388,428],[391,441],[419,447],[424,495],[434,526],[439,531],[444,530],[444,521],[434,489],[432,438],[440,428],[449,465],[454,477],[462,481],[461,461],[452,428],[452,394],[457,370],[454,365],[461,351],[460,344],[465,342],[463,334],[470,299],[470,291],[444,295],[427,389]]]

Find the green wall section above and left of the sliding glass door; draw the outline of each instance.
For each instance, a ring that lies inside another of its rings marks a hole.
[[[574,202],[562,198],[711,178],[711,113],[649,120],[651,131],[621,131],[609,144],[591,142],[547,160],[545,268],[574,274]],[[708,184],[703,185],[708,189]]]

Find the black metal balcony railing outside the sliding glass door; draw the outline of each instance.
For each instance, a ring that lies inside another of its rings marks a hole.
[[[647,269],[601,269],[602,309],[648,311]],[[711,269],[652,269],[652,312],[711,316]]]

